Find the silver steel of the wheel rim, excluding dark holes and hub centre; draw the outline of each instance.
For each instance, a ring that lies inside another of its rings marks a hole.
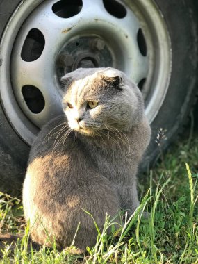
[[[111,50],[114,64],[110,66],[123,70],[127,75],[131,76],[136,83],[146,78],[142,93],[145,97],[146,115],[151,123],[158,114],[160,106],[163,104],[169,85],[172,60],[167,27],[155,3],[153,1],[147,1],[147,3],[145,3],[143,0],[133,2],[120,1],[119,3],[126,8],[127,15],[124,18],[118,18],[115,17],[115,14],[111,15],[108,13],[106,8],[104,8],[104,2],[101,0],[94,1],[95,9],[98,8],[97,15],[88,15],[90,13],[90,3],[93,2],[91,0],[83,0],[83,8],[81,8],[81,11],[77,15],[65,19],[64,22],[63,18],[56,16],[53,28],[57,28],[58,23],[60,23],[61,26],[58,30],[54,29],[54,31],[51,31],[51,33],[56,35],[56,38],[60,38],[60,40],[50,53],[49,51],[53,47],[50,44],[51,38],[49,38],[47,33],[44,33],[49,29],[47,27],[47,20],[45,20],[42,28],[39,28],[38,25],[39,23],[41,24],[44,15],[48,16],[48,19],[51,19],[50,16],[54,15],[52,6],[56,2],[58,1],[24,1],[10,18],[10,23],[8,23],[3,33],[3,38],[1,39],[0,47],[3,61],[0,67],[1,103],[15,131],[19,133],[28,145],[31,145],[39,131],[38,128],[42,126],[44,122],[51,119],[52,116],[60,113],[60,85],[56,74],[56,60],[63,51],[65,43],[67,44],[70,40],[75,39],[77,35],[82,37],[83,35],[89,34],[92,36],[96,35],[97,38],[103,38],[106,41],[108,41],[109,36],[111,36],[113,40],[109,42],[109,46],[113,45],[112,43],[117,40],[118,44],[114,45],[114,48]],[[31,12],[33,12],[32,16],[34,15],[36,19],[30,20],[31,16],[29,16],[29,14]],[[25,19],[26,22],[24,23]],[[81,19],[81,24],[79,24],[79,19]],[[101,19],[101,22],[99,22],[99,19]],[[131,22],[133,26],[131,26],[129,22]],[[23,31],[20,31],[22,24]],[[65,31],[66,34],[59,37],[59,32],[62,33],[65,27],[68,29],[71,28],[71,26],[73,26],[72,30]],[[35,27],[42,31],[45,43],[49,43],[49,47],[47,49],[46,46],[44,46],[42,54],[45,55],[42,60],[40,60],[40,64],[38,63],[38,59],[34,60],[34,62],[36,62],[35,64],[32,61],[24,63],[21,58],[22,45],[24,44],[28,32],[31,28]],[[15,28],[15,31],[13,31],[13,28]],[[119,32],[117,28],[119,28]],[[137,41],[137,34],[140,28],[142,32],[144,32],[146,39],[146,56],[142,56],[140,45]],[[13,58],[10,60],[11,51],[13,52]],[[46,53],[44,53],[45,51]],[[115,59],[116,52],[119,52],[119,57],[122,58],[121,63],[120,60]],[[51,56],[47,57],[49,53]],[[128,57],[130,59],[125,59]],[[31,68],[29,65],[33,64],[34,67]],[[144,64],[143,70],[141,68],[142,64]],[[45,65],[49,65],[49,67],[47,68]],[[42,69],[42,71],[37,68]],[[28,69],[28,71],[26,71],[28,74],[25,73],[26,79],[24,83],[22,83],[22,69]],[[35,77],[33,78],[31,77],[30,69],[37,69],[34,71]],[[41,110],[40,113],[32,113],[26,101],[24,101],[22,86],[35,85],[36,87],[37,82],[39,83],[38,86],[40,86],[42,85],[42,78],[49,78],[49,83],[43,82],[45,86],[44,88],[40,88],[44,95],[45,113],[44,110]],[[31,82],[27,81],[29,79],[31,79]],[[39,79],[40,81],[38,81]],[[49,88],[49,84],[51,84],[51,88],[48,93],[46,87]],[[53,104],[54,101],[56,104]],[[46,108],[49,105],[51,108]],[[52,116],[51,112],[53,112]]]

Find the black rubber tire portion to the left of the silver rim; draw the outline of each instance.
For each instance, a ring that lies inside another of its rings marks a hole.
[[[0,0],[0,38],[19,3],[20,0]],[[0,105],[0,191],[11,195],[21,194],[28,151],[29,147],[10,126]]]

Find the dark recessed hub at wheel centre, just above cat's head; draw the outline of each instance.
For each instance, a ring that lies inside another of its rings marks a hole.
[[[83,36],[67,42],[56,59],[58,80],[77,68],[113,67],[113,51],[101,38]]]

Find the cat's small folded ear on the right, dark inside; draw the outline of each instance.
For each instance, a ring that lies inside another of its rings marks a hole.
[[[106,71],[102,72],[101,78],[107,83],[113,83],[115,88],[122,90],[122,76],[119,74],[119,72],[113,69],[107,69]]]

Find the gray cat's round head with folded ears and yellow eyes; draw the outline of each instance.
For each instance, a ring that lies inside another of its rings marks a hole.
[[[144,115],[139,89],[117,69],[76,69],[62,81],[63,110],[69,127],[79,133],[129,131]]]

